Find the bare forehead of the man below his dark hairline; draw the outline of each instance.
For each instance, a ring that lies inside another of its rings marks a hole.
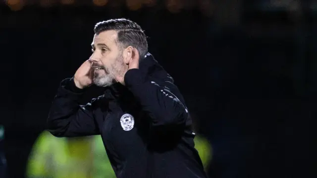
[[[106,45],[111,46],[116,43],[117,36],[118,33],[115,30],[104,31],[99,33],[98,35],[95,34],[93,43],[104,43]]]

